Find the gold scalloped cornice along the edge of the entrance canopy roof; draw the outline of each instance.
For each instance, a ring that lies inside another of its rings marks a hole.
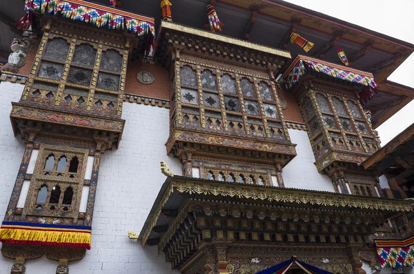
[[[384,199],[380,197],[362,197],[343,195],[315,190],[299,190],[295,188],[278,188],[257,186],[253,184],[236,184],[216,182],[206,179],[188,177],[168,177],[161,193],[157,197],[152,213],[141,231],[141,244],[144,246],[157,224],[159,215],[172,193],[182,193],[195,197],[211,197],[212,199],[242,199],[255,204],[278,203],[304,206],[304,208],[321,206],[322,208],[359,209],[374,213],[399,213],[411,211],[411,202],[401,199]],[[184,214],[185,215],[185,214]]]

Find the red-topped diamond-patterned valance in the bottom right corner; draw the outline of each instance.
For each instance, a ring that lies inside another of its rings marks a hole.
[[[408,239],[374,239],[381,267],[414,266],[414,236]]]

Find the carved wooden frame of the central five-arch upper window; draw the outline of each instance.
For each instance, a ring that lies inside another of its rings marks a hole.
[[[197,88],[192,86],[181,86],[180,70],[181,68],[184,68],[184,66],[189,66],[197,72]],[[279,141],[290,141],[286,123],[284,121],[284,117],[282,114],[282,108],[279,104],[279,97],[277,95],[275,84],[270,80],[269,77],[257,77],[253,74],[246,75],[242,72],[235,72],[235,70],[233,70],[230,67],[224,66],[224,64],[222,63],[220,63],[219,66],[211,66],[207,63],[201,63],[200,61],[192,61],[187,59],[181,59],[181,61],[179,61],[179,63],[176,64],[175,69],[175,109],[172,110],[172,117],[173,119],[175,119],[175,126],[180,127],[180,125],[183,123],[188,124],[188,120],[190,120],[191,125],[197,124],[192,122],[193,116],[191,116],[190,119],[188,119],[190,115],[188,115],[188,112],[186,112],[185,108],[190,108],[195,110],[195,112],[197,112],[196,116],[198,116],[197,122],[200,126],[195,126],[195,128],[192,128],[195,130],[207,130],[216,133],[232,133],[235,135],[242,135],[244,137],[261,137]],[[202,87],[201,73],[205,70],[210,70],[210,72],[212,72],[212,74],[215,75],[217,90],[210,90]],[[229,75],[232,79],[235,80],[236,94],[226,93],[222,90],[221,77],[223,77],[224,75]],[[250,83],[253,84],[255,97],[244,97],[242,93],[242,88],[240,86],[240,81],[242,81],[242,79],[244,78],[248,79],[248,81],[250,81]],[[260,95],[259,92],[259,84],[261,83],[264,83],[267,86],[269,86],[270,91],[272,92],[271,95],[273,97],[273,101],[262,100],[262,95]],[[186,104],[186,102],[181,101],[181,88],[198,91],[198,104]],[[217,94],[220,99],[220,108],[210,108],[206,106],[206,104],[203,104],[204,92]],[[239,104],[240,111],[238,112],[233,110],[226,110],[224,97],[231,97],[236,99]],[[246,112],[245,100],[253,101],[255,102],[255,104],[257,104],[257,114],[249,114]],[[272,107],[272,110],[276,111],[275,117],[269,117],[269,115],[266,115],[264,104],[274,106],[274,108]],[[209,112],[217,112],[217,114],[221,112],[221,119],[219,119],[218,122],[215,121],[217,117],[215,117],[214,119],[212,117],[209,117]],[[188,117],[184,117],[186,114]],[[228,115],[235,115],[235,119],[242,119],[242,121],[232,121],[232,119],[228,119]],[[216,124],[214,124],[214,121],[213,123],[211,123],[210,120],[208,120],[209,118],[211,121],[214,120]],[[277,124],[277,126],[269,126],[268,121],[273,121],[274,124]],[[233,124],[230,124],[230,122]],[[232,125],[239,126],[239,128],[234,129],[234,126],[232,127]],[[185,128],[186,126],[181,127]]]

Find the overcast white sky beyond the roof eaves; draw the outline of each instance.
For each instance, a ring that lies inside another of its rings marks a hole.
[[[287,1],[414,44],[413,0]],[[414,55],[408,57],[388,80],[414,88]],[[382,146],[413,123],[414,100],[377,128]]]

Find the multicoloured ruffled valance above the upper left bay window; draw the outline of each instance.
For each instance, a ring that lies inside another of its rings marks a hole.
[[[140,14],[127,12],[110,6],[103,6],[85,0],[26,0],[25,10],[34,14],[57,15],[92,23],[101,28],[131,30],[137,35],[149,34],[155,41],[155,20]]]

